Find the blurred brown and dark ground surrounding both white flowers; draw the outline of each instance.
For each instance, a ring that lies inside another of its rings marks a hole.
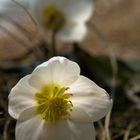
[[[10,89],[48,59],[46,47],[50,42],[50,38],[44,41],[24,7],[14,2],[13,5],[15,8],[9,6],[4,14],[0,10],[0,140],[15,139],[15,120],[7,112]],[[113,98],[111,114],[96,123],[97,139],[138,140],[140,1],[97,0],[87,27],[88,34],[80,44],[58,40],[58,54],[77,61],[82,74],[105,88]]]

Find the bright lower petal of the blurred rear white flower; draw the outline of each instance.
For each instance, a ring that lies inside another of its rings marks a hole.
[[[81,42],[86,33],[86,25],[70,23],[58,33],[58,37],[65,42]]]

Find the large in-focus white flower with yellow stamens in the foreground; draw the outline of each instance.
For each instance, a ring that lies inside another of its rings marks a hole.
[[[94,140],[93,122],[111,108],[106,91],[80,75],[77,63],[53,57],[9,95],[16,140]]]

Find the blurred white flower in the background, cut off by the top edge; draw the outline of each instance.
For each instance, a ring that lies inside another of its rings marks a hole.
[[[43,30],[59,31],[63,41],[81,41],[86,21],[94,9],[93,0],[30,0],[30,9]]]

